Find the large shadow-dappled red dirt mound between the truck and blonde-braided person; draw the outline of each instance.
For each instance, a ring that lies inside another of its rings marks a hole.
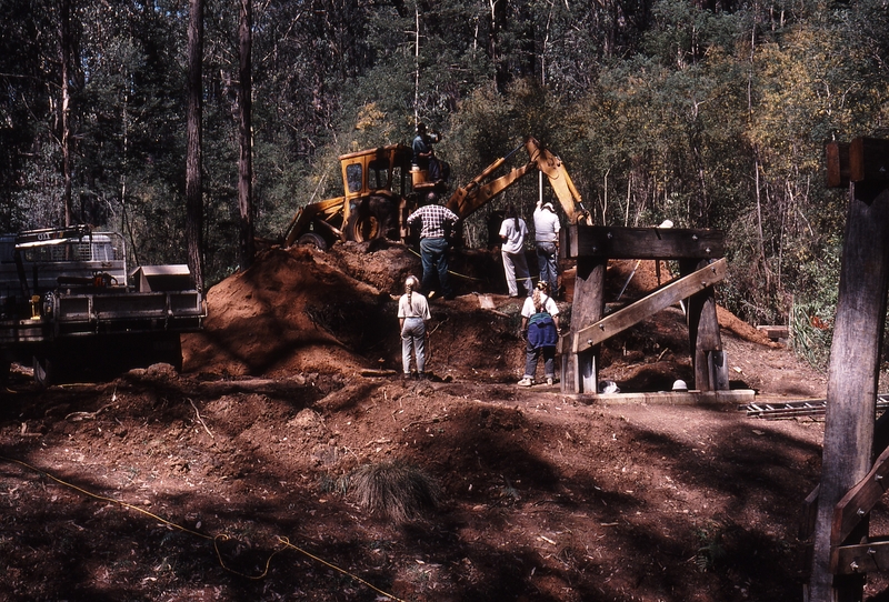
[[[368,362],[353,349],[382,335],[377,317],[388,300],[310,248],[271,249],[209,290],[204,330],[182,338],[183,369],[267,377],[358,371]]]

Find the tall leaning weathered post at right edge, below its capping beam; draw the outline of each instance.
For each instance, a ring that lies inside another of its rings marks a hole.
[[[889,153],[882,153],[882,158],[889,158]],[[835,506],[867,475],[872,463],[880,345],[889,283],[889,189],[885,181],[866,182],[863,177],[852,177],[852,181],[828,370],[809,602],[857,602],[863,596],[863,575],[832,574],[830,555],[832,544],[858,543],[867,536],[868,521],[862,521],[846,542],[831,542],[831,528]]]

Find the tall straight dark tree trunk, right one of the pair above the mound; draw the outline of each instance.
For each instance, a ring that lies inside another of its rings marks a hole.
[[[247,269],[253,263],[256,254],[253,244],[253,161],[252,161],[252,130],[250,128],[252,114],[252,72],[250,68],[252,50],[253,3],[252,0],[241,0],[241,18],[238,28],[240,40],[240,69],[238,87],[238,139],[240,157],[238,159],[238,207],[241,211],[241,268]]]

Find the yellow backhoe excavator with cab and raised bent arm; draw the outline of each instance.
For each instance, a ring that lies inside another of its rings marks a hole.
[[[495,177],[522,148],[528,152],[528,162]],[[411,165],[413,151],[404,144],[340,155],[344,194],[300,208],[288,225],[284,247],[313,244],[326,250],[337,240],[366,242],[381,238],[408,242],[408,215],[429,192],[447,191],[447,182],[431,181],[426,170]],[[532,137],[455,190],[446,207],[465,220],[532,170],[547,175],[568,223],[592,224],[561,160]]]

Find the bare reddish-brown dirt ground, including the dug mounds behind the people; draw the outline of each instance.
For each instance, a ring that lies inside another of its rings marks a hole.
[[[432,303],[430,381],[397,374],[394,299],[420,271],[399,245],[268,251],[209,291],[182,374],[159,364],[41,391],[13,373],[0,599],[802,600],[820,420],[519,389],[519,305],[496,257],[452,268],[458,299]],[[631,269],[609,268],[611,299]],[[622,301],[656,279],[643,262]],[[787,348],[728,312],[720,323],[732,388],[825,397]],[[602,360],[625,392],[690,381],[681,310]],[[438,504],[408,521],[362,506],[347,478],[390,464],[426,475]]]

